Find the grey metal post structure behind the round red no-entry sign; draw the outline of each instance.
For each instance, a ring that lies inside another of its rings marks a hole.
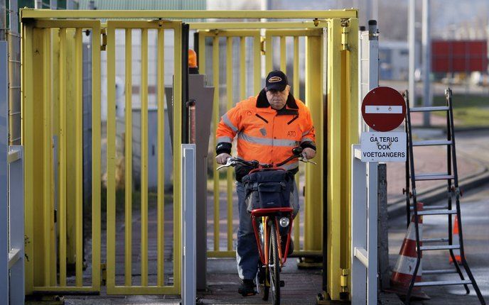
[[[359,105],[379,84],[377,23],[360,32]],[[359,106],[360,107],[360,106]],[[360,109],[360,108],[359,108]],[[370,131],[358,115],[358,133]],[[377,162],[361,162],[360,145],[352,146],[352,304],[377,304]]]

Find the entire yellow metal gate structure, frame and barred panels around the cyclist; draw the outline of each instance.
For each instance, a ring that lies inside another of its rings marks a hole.
[[[226,40],[227,50],[226,83],[232,84],[235,79],[240,79],[243,84],[239,94],[225,92],[227,97],[222,111],[218,105],[224,92],[220,94],[216,90],[213,121],[217,123],[220,114],[236,101],[247,95],[257,94],[262,87],[262,77],[268,70],[276,67],[288,70],[286,57],[293,54],[292,71],[295,73],[303,70],[304,76],[303,94],[299,92],[300,77],[291,77],[293,93],[304,96],[304,101],[311,109],[318,135],[318,166],[308,165],[301,169],[305,171],[306,204],[301,216],[304,225],[301,232],[299,227],[295,228],[294,238],[303,240],[303,248],[299,249],[299,253],[318,253],[321,248],[327,248],[328,269],[325,272],[328,287],[325,290],[331,299],[340,299],[340,293],[348,292],[349,289],[349,281],[345,275],[348,275],[350,266],[350,145],[358,141],[357,17],[358,12],[355,10],[21,11],[28,259],[26,292],[100,292],[101,282],[106,281],[109,294],[180,293],[179,164],[182,113],[181,106],[178,105],[182,98],[182,23],[168,19],[234,18],[233,22],[189,23],[190,29],[198,30],[203,38],[199,40],[200,71],[212,72],[215,86],[221,84],[219,44],[222,38]],[[120,20],[123,18],[131,21]],[[257,22],[260,18],[268,20]],[[139,21],[133,21],[134,19]],[[141,21],[142,19],[149,20]],[[276,19],[294,22],[275,21]],[[296,21],[298,19],[301,21]],[[172,34],[167,35],[170,32]],[[118,42],[118,33],[121,34],[123,43]],[[83,205],[81,188],[81,45],[88,34],[91,37],[89,46],[92,51],[93,159],[91,204],[90,209],[84,211],[87,206]],[[154,38],[149,39],[150,36]],[[212,57],[205,55],[206,38],[212,40]],[[233,43],[233,39],[239,42]],[[273,40],[279,43],[274,44]],[[148,52],[151,41],[156,41],[156,53]],[[287,51],[287,41],[293,50],[291,53]],[[135,47],[135,43],[139,43],[141,47]],[[171,47],[165,48],[167,43]],[[233,45],[239,46],[241,54],[253,54],[254,59],[249,67],[241,57],[238,64],[240,68],[232,69],[235,57],[230,56],[229,51],[234,48]],[[252,48],[248,50],[247,45],[252,45]],[[276,52],[274,45],[279,45]],[[299,48],[304,48],[303,59],[297,56]],[[124,56],[119,58],[117,50]],[[151,56],[156,58],[154,65],[149,63]],[[134,77],[136,69],[132,67],[130,60],[134,57],[138,57],[141,62],[136,65],[140,77]],[[211,58],[212,68],[206,63]],[[170,75],[165,77],[165,71],[168,73],[168,70],[171,70]],[[154,84],[150,84],[148,78],[151,71],[156,74]],[[290,71],[286,72],[290,74]],[[120,75],[124,75],[123,82],[120,82]],[[103,78],[107,79],[107,83],[102,81]],[[133,83],[133,78],[137,78],[136,83],[139,86]],[[176,105],[173,108],[173,162],[163,165],[163,152],[166,151],[163,145],[166,134],[164,105],[168,106],[171,102],[163,92],[165,82],[168,84],[169,81],[171,84],[172,79],[171,100]],[[249,85],[251,83],[252,86]],[[125,92],[124,103],[118,103],[120,96],[116,87],[121,86]],[[150,100],[152,106],[149,106]],[[107,106],[102,106],[103,101],[107,101]],[[137,146],[132,145],[134,134],[131,126],[134,126],[133,119],[136,116],[133,118],[134,111],[131,112],[130,109],[134,108],[134,101],[140,104],[141,113],[139,158],[132,156]],[[122,125],[116,118],[116,109],[120,106],[125,106]],[[107,118],[104,118],[104,107],[107,107]],[[156,193],[148,191],[149,180],[146,177],[149,172],[147,124],[148,111],[151,109],[157,109],[158,113]],[[118,126],[122,126],[122,131]],[[125,138],[122,148],[119,147],[119,138]],[[139,192],[131,191],[131,186],[137,179],[132,177],[133,160],[141,164]],[[164,191],[163,166],[173,167],[171,192]],[[119,179],[121,176],[125,179]],[[227,174],[226,217],[219,214],[218,196],[221,191],[217,174],[214,179],[214,196],[217,199],[214,201],[213,246],[209,249],[209,255],[226,257],[234,255],[232,231],[235,223],[232,221],[232,192],[229,187],[232,177],[230,173]],[[324,188],[328,190],[326,198],[323,195]],[[328,214],[326,245],[322,244],[320,230],[323,201],[327,201]],[[85,240],[90,243],[89,247],[85,247],[90,249],[90,253],[85,253],[85,265],[82,259],[82,216],[87,213],[90,214],[91,233],[90,238]],[[137,223],[136,228],[132,226],[133,223]],[[132,240],[134,231],[139,229],[141,240]],[[222,234],[222,231],[225,233]],[[220,247],[220,234],[225,235],[224,248]],[[123,242],[119,243],[119,238]],[[168,243],[173,248],[165,251]],[[133,248],[137,250],[134,251]],[[135,253],[139,254],[137,262],[134,260]],[[156,257],[151,253],[156,253]],[[122,269],[117,269],[121,265]],[[73,266],[73,270],[70,270],[70,266]]]

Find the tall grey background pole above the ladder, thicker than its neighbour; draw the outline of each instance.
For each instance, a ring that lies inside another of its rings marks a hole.
[[[429,12],[429,0],[423,0],[423,106],[431,106],[431,84],[429,76],[431,74],[431,21]],[[423,125],[429,126],[429,111],[423,113]]]

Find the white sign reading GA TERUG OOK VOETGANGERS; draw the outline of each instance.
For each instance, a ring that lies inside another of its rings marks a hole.
[[[406,133],[362,133],[362,162],[406,162]]]

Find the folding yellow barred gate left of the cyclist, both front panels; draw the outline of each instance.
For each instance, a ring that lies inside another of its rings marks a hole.
[[[180,21],[100,23],[23,18],[26,293],[100,292],[101,282],[106,282],[108,294],[179,294],[181,108],[178,106],[173,111],[173,165],[164,165],[163,160],[165,71],[173,76],[173,101],[180,101],[181,28]],[[87,35],[91,37],[89,46],[92,50],[92,74],[89,75],[92,79],[91,206],[84,205],[82,197],[82,44],[83,36]],[[156,38],[156,48],[153,48],[156,50],[153,60],[156,67],[149,65],[149,35]],[[134,40],[131,39],[134,36],[140,48],[134,48]],[[120,37],[124,38],[123,41],[116,44],[116,38]],[[168,50],[168,45],[173,49]],[[117,48],[123,52],[117,52]],[[139,91],[139,99],[133,96],[133,50],[139,53],[137,59],[140,60],[137,65],[140,71],[139,86],[135,87]],[[105,67],[101,65],[102,52],[106,55]],[[116,55],[121,53],[123,59],[117,58],[119,65],[116,65]],[[172,62],[170,68],[173,71],[165,70],[165,60]],[[122,72],[127,75],[124,79],[125,111],[122,121],[125,141],[123,148],[117,150],[121,143],[116,143],[116,120],[121,120],[116,119],[116,89],[120,85],[116,84],[116,74],[121,73],[116,73],[116,70],[121,66]],[[158,182],[156,194],[152,193],[151,198],[148,191],[149,69],[156,74],[153,82],[156,85],[152,91],[156,99],[156,136],[159,139]],[[107,79],[107,106],[102,106],[101,92],[105,89],[101,88],[102,77]],[[167,83],[172,82],[171,77],[166,75],[166,78]],[[134,103],[140,104],[141,113],[141,187],[137,194],[132,192],[134,150],[131,109]],[[107,116],[102,120],[101,112],[104,111],[107,111]],[[103,129],[106,132],[102,133]],[[106,172],[101,172],[103,164]],[[165,166],[173,167],[173,194],[165,193]],[[125,180],[121,181],[121,175]],[[136,206],[133,207],[133,204]],[[149,216],[149,209],[155,212],[156,217]],[[165,212],[170,215],[165,216]],[[141,216],[138,221],[141,224],[140,240],[132,239],[133,213]],[[101,231],[104,215],[106,231]],[[116,220],[121,217],[124,217],[124,221]],[[91,247],[85,249],[91,251],[83,253],[82,231],[87,222],[91,222],[92,226],[85,228],[91,231],[85,242],[90,243]],[[156,236],[149,236],[151,232],[156,232]],[[117,238],[119,234],[124,238]],[[165,251],[168,241],[171,250]],[[151,251],[149,248],[152,245],[156,249]],[[133,248],[140,249],[136,256]],[[149,258],[151,253],[156,254]],[[91,262],[84,262],[84,255],[90,257]],[[117,264],[119,257],[124,264]],[[101,260],[104,263],[101,264]],[[87,265],[90,267],[86,268]],[[123,267],[118,270],[121,265]]]

